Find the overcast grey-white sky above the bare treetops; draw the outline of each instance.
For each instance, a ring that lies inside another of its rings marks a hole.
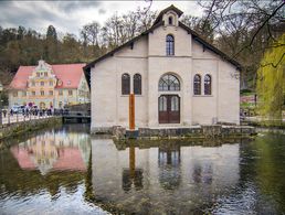
[[[150,3],[140,1],[1,1],[0,0],[0,25],[14,28],[23,25],[41,33],[52,24],[62,33],[78,35],[80,29],[92,21],[101,24],[115,12],[119,14],[136,8],[148,7]],[[184,14],[202,14],[202,9],[196,1],[161,1],[154,0],[151,10],[162,10],[175,4]]]

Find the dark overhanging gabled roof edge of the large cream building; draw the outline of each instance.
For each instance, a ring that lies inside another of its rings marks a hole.
[[[173,10],[177,12],[177,14],[180,17],[183,12],[180,11],[178,8],[176,8],[173,4],[171,4],[170,7],[166,8],[165,10],[162,10],[159,14],[158,18],[156,19],[154,25],[142,32],[140,35],[131,39],[130,41],[124,43],[123,45],[116,47],[115,50],[106,53],[105,55],[96,58],[95,61],[91,62],[89,64],[87,64],[84,67],[85,71],[85,77],[86,79],[89,79],[89,74],[86,73],[88,68],[93,67],[97,62],[101,62],[102,60],[108,57],[108,56],[113,56],[114,53],[116,53],[117,51],[122,50],[123,47],[126,47],[128,45],[130,45],[131,43],[134,43],[135,41],[137,41],[138,39],[140,39],[144,35],[148,35],[148,33],[152,32],[155,29],[157,29],[158,26],[163,24],[162,21],[162,14],[166,13],[169,10]],[[210,43],[208,43],[205,40],[203,40],[197,32],[194,32],[193,30],[191,30],[189,26],[184,25],[182,22],[179,21],[179,26],[181,26],[182,29],[184,29],[188,33],[190,33],[193,37],[193,40],[196,40],[197,42],[199,42],[200,44],[203,45],[203,47],[214,52],[215,54],[220,55],[223,60],[228,61],[229,63],[231,63],[232,65],[234,65],[238,69],[241,71],[242,66],[239,62],[236,62],[235,60],[233,60],[232,57],[230,57],[229,55],[226,55],[225,53],[223,53],[222,51],[220,51],[219,49],[214,47],[213,45],[211,45]],[[88,82],[89,83],[89,82]]]

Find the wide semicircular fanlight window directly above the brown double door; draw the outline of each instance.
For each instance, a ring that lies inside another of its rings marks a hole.
[[[178,92],[180,90],[180,83],[173,75],[165,75],[160,78],[158,85],[159,92]]]

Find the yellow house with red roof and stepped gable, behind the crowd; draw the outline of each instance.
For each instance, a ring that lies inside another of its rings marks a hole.
[[[89,89],[83,72],[85,64],[20,66],[9,86],[9,106],[30,105],[62,108],[89,103]]]

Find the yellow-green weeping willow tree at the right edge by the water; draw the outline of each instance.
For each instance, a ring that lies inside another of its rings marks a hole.
[[[281,125],[285,99],[285,33],[265,52],[257,71],[257,95],[261,116],[266,123]]]

